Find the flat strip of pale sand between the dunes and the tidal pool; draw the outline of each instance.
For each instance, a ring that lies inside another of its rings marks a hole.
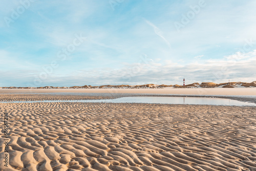
[[[225,98],[239,100],[245,102],[256,103],[256,88],[255,91],[248,88],[240,88],[240,91],[229,91],[209,89],[198,90],[189,89],[184,91],[168,91],[163,89],[36,89],[29,91],[24,89],[1,90],[0,101],[44,101],[44,100],[100,100],[100,99],[116,99],[121,97],[137,97],[137,96],[163,96],[163,97],[208,97],[208,98]],[[226,90],[226,88],[223,88]],[[169,90],[169,89],[167,89]],[[174,89],[177,90],[177,89]],[[178,89],[179,90],[179,89]],[[173,93],[173,94],[168,94]],[[187,94],[185,94],[187,93]],[[253,95],[255,94],[255,95]]]

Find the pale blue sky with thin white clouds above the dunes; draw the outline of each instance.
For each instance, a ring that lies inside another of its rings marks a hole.
[[[0,87],[256,80],[256,1],[3,0]]]

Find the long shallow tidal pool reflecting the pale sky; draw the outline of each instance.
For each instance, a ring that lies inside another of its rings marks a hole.
[[[208,104],[208,105],[249,105],[256,106],[256,103],[244,102],[225,98],[209,97],[121,97],[116,99],[100,100],[44,100],[44,101],[11,101],[0,103],[35,103],[35,102],[109,102],[109,103],[160,103],[160,104]]]

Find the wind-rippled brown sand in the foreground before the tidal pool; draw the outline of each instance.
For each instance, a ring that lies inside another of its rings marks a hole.
[[[0,170],[256,170],[255,111],[249,106],[0,103],[1,125],[7,112],[10,126],[9,166],[3,163],[2,132]]]

